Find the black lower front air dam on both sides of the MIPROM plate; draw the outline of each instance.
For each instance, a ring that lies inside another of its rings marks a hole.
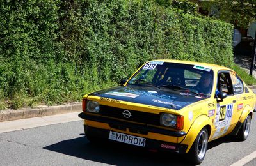
[[[84,133],[86,135],[90,134],[90,135],[93,135],[100,139],[108,140],[109,132],[110,132],[110,130],[106,130],[106,129],[102,129],[102,128],[94,128],[91,126],[84,125]],[[115,140],[109,140],[109,141],[116,142]],[[121,143],[121,142],[118,142],[118,143],[125,144],[125,143]],[[138,147],[138,146],[136,146],[136,147]],[[172,147],[172,148],[170,148],[170,147]],[[173,148],[173,147],[175,147],[175,148]],[[186,153],[188,146],[184,145],[184,144],[174,144],[174,143],[164,142],[164,141],[160,141],[160,140],[146,139],[145,148],[159,150],[159,151],[170,151],[173,153],[182,154],[182,153]]]

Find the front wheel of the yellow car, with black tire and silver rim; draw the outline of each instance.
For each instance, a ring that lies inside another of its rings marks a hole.
[[[197,135],[193,146],[189,150],[189,160],[198,165],[203,162],[208,146],[208,131],[203,128]]]

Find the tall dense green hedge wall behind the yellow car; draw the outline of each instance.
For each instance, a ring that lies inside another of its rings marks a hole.
[[[80,101],[150,59],[232,67],[230,24],[143,0],[1,1],[0,110]]]

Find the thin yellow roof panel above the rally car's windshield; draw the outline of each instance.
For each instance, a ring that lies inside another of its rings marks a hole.
[[[210,63],[200,63],[200,62],[195,62],[195,61],[182,61],[182,60],[172,60],[172,59],[157,59],[157,60],[152,60],[152,61],[161,61],[161,62],[167,62],[167,63],[180,63],[180,64],[191,64],[195,66],[203,66],[205,68],[211,68],[212,70],[218,72],[219,70],[230,70],[234,72],[234,70],[224,67],[224,66],[219,66],[217,64],[210,64]]]

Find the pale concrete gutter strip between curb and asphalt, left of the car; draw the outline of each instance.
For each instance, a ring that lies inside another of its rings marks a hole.
[[[0,133],[47,126],[51,124],[66,123],[71,121],[82,121],[78,114],[80,112],[71,112],[67,114],[58,114],[54,116],[33,117],[28,119],[19,119],[15,121],[0,122]]]

